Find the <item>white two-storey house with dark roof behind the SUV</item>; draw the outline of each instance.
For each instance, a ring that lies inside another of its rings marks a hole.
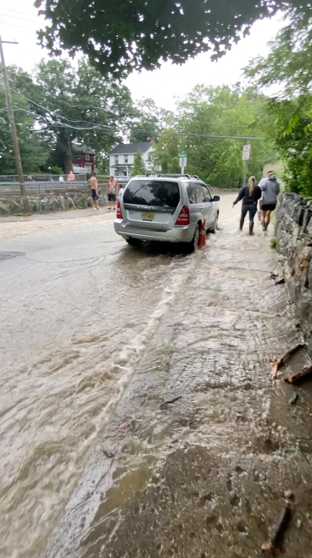
[[[134,156],[138,151],[142,153],[147,171],[151,168],[150,153],[154,150],[154,140],[139,143],[119,143],[109,153],[110,176],[130,176]]]

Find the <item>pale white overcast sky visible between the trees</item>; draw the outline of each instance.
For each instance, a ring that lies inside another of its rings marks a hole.
[[[34,0],[1,0],[0,32],[2,40],[16,40],[18,45],[4,45],[6,64],[16,64],[31,71],[35,64],[47,57],[47,52],[37,45],[36,30],[44,18],[37,16]],[[250,58],[265,55],[267,42],[274,39],[282,27],[281,18],[258,21],[252,26],[250,36],[242,39],[221,60],[211,62],[209,53],[199,54],[183,66],[166,62],[161,69],[133,73],[125,81],[133,99],[152,97],[159,107],[173,109],[175,98],[188,93],[197,83],[205,85],[233,84],[241,79],[242,68]]]

